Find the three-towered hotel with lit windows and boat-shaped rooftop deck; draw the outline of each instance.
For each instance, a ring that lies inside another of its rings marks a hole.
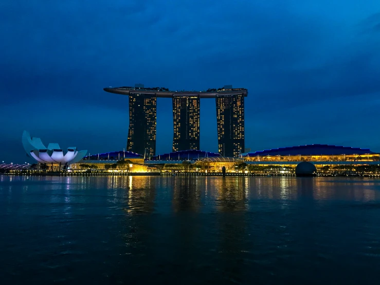
[[[248,95],[245,88],[225,85],[194,92],[135,84],[104,91],[129,96],[128,151],[156,155],[156,105],[160,97],[173,101],[173,151],[200,149],[200,99],[215,98],[219,153],[232,157],[244,152],[244,97]]]

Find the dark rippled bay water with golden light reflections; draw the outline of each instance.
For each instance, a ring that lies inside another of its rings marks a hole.
[[[380,265],[378,180],[1,176],[0,182],[6,283],[378,280],[371,270]]]

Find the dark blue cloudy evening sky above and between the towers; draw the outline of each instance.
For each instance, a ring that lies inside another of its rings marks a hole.
[[[122,150],[128,97],[106,86],[248,88],[246,147],[335,144],[380,151],[380,2],[0,3],[0,160],[25,161],[23,130],[91,153]],[[157,100],[157,153],[171,150]],[[201,149],[217,151],[215,101]]]

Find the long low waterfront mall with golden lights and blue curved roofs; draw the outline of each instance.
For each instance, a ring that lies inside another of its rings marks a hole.
[[[128,161],[118,167],[118,161]],[[160,173],[227,173],[260,175],[294,175],[301,162],[315,165],[319,174],[380,174],[380,154],[369,149],[332,145],[306,145],[243,153],[225,157],[199,150],[176,151],[144,158],[133,152],[120,151],[85,156],[71,165],[76,171],[106,170],[109,172]],[[113,165],[114,168],[107,167]]]

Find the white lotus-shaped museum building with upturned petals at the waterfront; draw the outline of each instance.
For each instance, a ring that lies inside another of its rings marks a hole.
[[[77,151],[76,147],[67,148],[63,152],[58,144],[50,143],[47,148],[39,137],[30,137],[27,131],[23,133],[23,147],[30,157],[40,163],[47,164],[73,164],[79,162],[87,153],[86,150]]]

